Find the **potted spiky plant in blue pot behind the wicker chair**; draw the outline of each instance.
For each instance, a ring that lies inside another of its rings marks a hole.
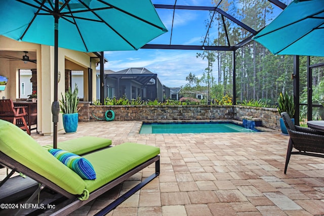
[[[281,114],[282,112],[287,112],[288,115],[292,118],[292,121],[295,123],[294,97],[289,96],[287,93],[285,93],[285,94],[280,93],[280,96],[278,99],[278,112],[279,112],[279,114]],[[280,118],[280,128],[281,128],[282,133],[288,134],[286,125],[282,118]]]

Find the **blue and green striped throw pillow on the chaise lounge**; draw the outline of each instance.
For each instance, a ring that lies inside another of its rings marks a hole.
[[[50,149],[49,152],[83,179],[95,180],[96,172],[86,158],[60,149]]]

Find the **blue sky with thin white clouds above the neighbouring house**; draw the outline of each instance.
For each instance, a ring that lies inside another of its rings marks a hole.
[[[153,4],[174,4],[174,0],[152,0]],[[178,0],[177,5],[213,6],[210,0]],[[149,44],[170,44],[173,10],[157,9],[160,19],[169,32],[153,39]],[[235,16],[235,15],[233,15]],[[172,44],[201,45],[206,35],[207,11],[177,10],[173,23]],[[210,34],[215,36],[212,28]],[[130,67],[145,67],[156,73],[167,87],[180,87],[187,83],[186,76],[191,72],[200,77],[208,66],[207,60],[196,58],[191,50],[151,50],[104,52],[108,63],[105,69],[119,71]],[[217,68],[214,68],[216,74]]]

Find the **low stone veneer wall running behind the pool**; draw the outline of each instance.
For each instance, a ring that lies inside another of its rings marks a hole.
[[[279,113],[274,108],[248,106],[95,106],[80,102],[79,121],[97,121],[113,110],[116,121],[123,120],[242,120],[242,116],[262,119],[262,126],[280,129]]]

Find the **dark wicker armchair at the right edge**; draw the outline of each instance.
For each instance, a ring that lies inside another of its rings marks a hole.
[[[289,134],[286,156],[285,174],[292,154],[324,157],[324,133],[308,127],[300,127],[293,123],[287,112],[281,113]],[[293,147],[298,151],[293,151]]]

